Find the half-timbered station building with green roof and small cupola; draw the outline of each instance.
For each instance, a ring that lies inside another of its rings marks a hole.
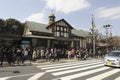
[[[86,48],[90,43],[88,31],[74,29],[65,19],[55,21],[54,14],[49,16],[48,24],[25,22],[23,47]]]

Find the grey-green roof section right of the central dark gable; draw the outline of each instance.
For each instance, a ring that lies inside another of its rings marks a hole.
[[[80,37],[88,37],[90,35],[90,32],[73,29],[72,34]]]

